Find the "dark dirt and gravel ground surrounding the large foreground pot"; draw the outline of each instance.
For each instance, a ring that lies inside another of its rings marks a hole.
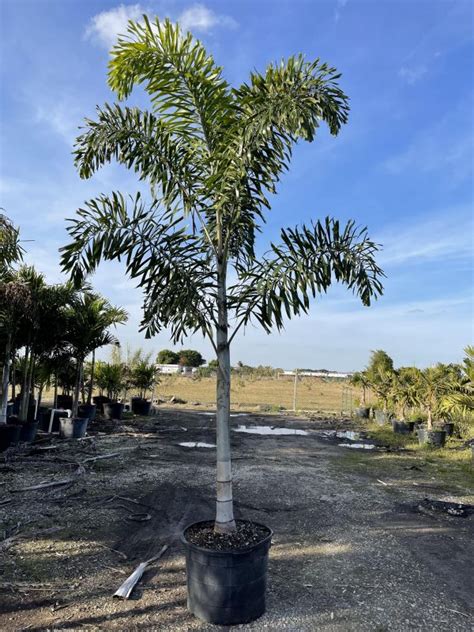
[[[232,432],[237,515],[274,531],[267,613],[232,629],[473,629],[474,516],[420,506],[425,497],[472,502],[467,481],[437,479],[403,453],[384,470],[380,452],[349,450],[321,432],[353,428],[349,421],[253,414],[233,422],[308,435]],[[186,524],[212,517],[215,450],[178,444],[214,443],[213,417],[161,410],[109,426],[0,462],[0,630],[227,629],[186,610],[179,543]],[[91,460],[104,455],[113,456]],[[164,544],[132,599],[113,599]]]

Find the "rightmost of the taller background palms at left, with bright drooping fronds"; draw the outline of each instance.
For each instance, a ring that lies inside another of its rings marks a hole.
[[[105,298],[88,289],[78,292],[68,307],[66,339],[76,361],[73,417],[77,416],[78,412],[86,357],[99,347],[117,343],[116,337],[108,330],[112,325],[124,323],[126,320],[125,310],[113,307]]]

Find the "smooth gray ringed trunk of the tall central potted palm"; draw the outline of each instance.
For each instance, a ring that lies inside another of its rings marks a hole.
[[[232,497],[232,463],[230,458],[230,348],[228,338],[226,266],[217,262],[217,494],[216,522],[217,533],[230,533],[235,530],[234,505]]]

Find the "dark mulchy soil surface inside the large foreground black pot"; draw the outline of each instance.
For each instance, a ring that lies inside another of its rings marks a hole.
[[[214,522],[201,522],[186,529],[184,536],[188,542],[212,551],[245,551],[263,542],[270,535],[270,529],[248,520],[237,520],[234,533],[215,533]]]

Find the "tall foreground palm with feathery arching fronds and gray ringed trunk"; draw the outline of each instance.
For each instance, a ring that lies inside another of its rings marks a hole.
[[[135,86],[152,111],[105,105],[76,144],[83,178],[115,159],[149,183],[153,200],[121,193],[88,201],[69,227],[62,264],[79,282],[102,259],[121,259],[144,291],[142,328],[169,328],[174,344],[201,332],[217,372],[215,530],[235,530],[230,459],[230,346],[241,328],[281,329],[306,313],[332,278],[365,305],[381,294],[378,246],[353,221],[287,228],[257,257],[255,236],[292,148],[327,123],[337,135],[348,98],[337,70],[302,55],[231,87],[212,56],[169,21],[129,22],[112,50],[109,86]],[[229,275],[232,272],[232,275]]]

